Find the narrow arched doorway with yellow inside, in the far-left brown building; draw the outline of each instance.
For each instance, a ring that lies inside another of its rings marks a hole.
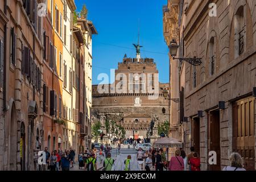
[[[25,171],[26,170],[26,164],[25,164],[25,152],[26,152],[26,133],[25,133],[25,125],[22,122],[20,126],[20,148],[19,148],[19,154],[20,154],[20,170]]]

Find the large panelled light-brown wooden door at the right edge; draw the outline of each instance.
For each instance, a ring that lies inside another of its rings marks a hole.
[[[254,97],[233,104],[233,151],[238,152],[246,170],[255,169]]]

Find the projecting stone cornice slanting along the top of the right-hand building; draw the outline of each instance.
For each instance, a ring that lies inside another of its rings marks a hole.
[[[203,0],[201,1],[200,5],[195,10],[195,13],[192,15],[192,17],[189,17],[189,22],[187,23],[187,26],[185,26],[183,34],[184,34],[184,40],[187,39],[187,37],[191,34],[191,32],[194,30],[194,28],[197,25],[197,22],[199,22],[199,19],[201,18],[201,15],[205,13],[205,9],[208,9],[208,4],[210,3],[210,0]],[[192,5],[191,5],[192,6]],[[187,11],[186,11],[187,12]]]

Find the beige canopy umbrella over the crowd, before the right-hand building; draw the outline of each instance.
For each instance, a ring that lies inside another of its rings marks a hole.
[[[177,147],[181,148],[182,143],[179,142],[176,138],[171,137],[163,137],[159,140],[156,140],[153,144],[153,147],[159,147],[159,148],[169,148],[169,147]]]

